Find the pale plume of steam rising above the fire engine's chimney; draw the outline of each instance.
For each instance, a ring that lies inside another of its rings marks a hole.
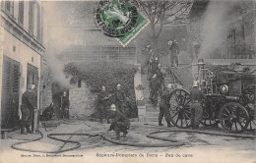
[[[232,1],[210,1],[203,22],[200,58],[209,57],[216,48],[221,47],[224,43],[230,23],[227,14],[232,6]]]

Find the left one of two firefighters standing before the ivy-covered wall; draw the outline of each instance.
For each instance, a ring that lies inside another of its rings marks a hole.
[[[110,96],[106,92],[105,86],[103,85],[101,87],[100,93],[97,94],[97,101],[98,101],[98,112],[99,112],[99,122],[102,124],[102,120],[106,118],[107,123],[109,123],[108,120],[108,112],[107,112],[107,100]]]

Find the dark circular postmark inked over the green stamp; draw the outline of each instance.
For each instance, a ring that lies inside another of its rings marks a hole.
[[[128,0],[100,1],[95,10],[95,24],[104,34],[123,37],[134,30],[138,11]]]

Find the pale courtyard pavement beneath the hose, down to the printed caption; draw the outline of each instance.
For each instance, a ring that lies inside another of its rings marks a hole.
[[[166,126],[166,124],[164,124]],[[21,144],[20,147],[36,150],[57,150],[74,146],[71,143],[56,141],[47,137],[49,134],[61,133],[105,133],[109,124],[91,121],[52,121],[39,130],[43,138],[39,141]],[[174,128],[174,127],[172,127]],[[158,127],[157,122],[132,122],[127,138],[121,141],[164,143],[164,141],[146,137],[154,131],[165,129]],[[215,131],[207,129],[209,131]],[[215,132],[222,132],[216,130]],[[109,136],[115,136],[110,132]],[[62,136],[62,138],[80,141],[82,146],[76,150],[58,154],[33,153],[12,149],[14,142],[22,139],[32,139],[38,135],[20,135],[20,131],[8,134],[7,139],[1,139],[1,163],[16,162],[230,162],[253,163],[256,161],[256,139],[236,138],[229,136],[209,136],[188,133],[162,133],[162,137],[172,137],[186,144],[171,147],[137,147],[117,145],[102,139],[100,136]]]

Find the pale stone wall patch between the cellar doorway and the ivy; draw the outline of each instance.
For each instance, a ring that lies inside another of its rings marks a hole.
[[[95,110],[96,93],[92,93],[85,81],[72,83],[69,89],[70,117],[87,119]]]

